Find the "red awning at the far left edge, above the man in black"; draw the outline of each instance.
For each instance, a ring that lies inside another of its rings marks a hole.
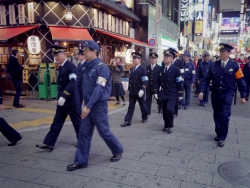
[[[18,26],[18,27],[0,28],[0,41],[7,41],[12,37],[15,37],[35,27],[37,26]]]

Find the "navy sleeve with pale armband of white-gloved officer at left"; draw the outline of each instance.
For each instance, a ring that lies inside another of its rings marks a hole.
[[[65,98],[66,100],[71,95],[71,93],[75,90],[75,87],[77,87],[77,73],[76,72],[77,72],[76,67],[72,65],[67,75],[69,79],[69,83],[65,87],[61,95],[61,97]]]

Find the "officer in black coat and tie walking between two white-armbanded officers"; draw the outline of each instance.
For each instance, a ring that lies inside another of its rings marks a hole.
[[[152,96],[154,95],[155,88],[155,82],[156,78],[159,72],[159,69],[161,66],[157,65],[157,58],[158,55],[156,53],[151,53],[149,55],[150,58],[150,65],[148,65],[147,68],[147,75],[148,75],[148,86],[146,89],[146,105],[148,110],[148,115],[151,114],[151,105],[152,105]],[[158,104],[158,113],[161,113],[161,103],[160,100],[156,99]]]

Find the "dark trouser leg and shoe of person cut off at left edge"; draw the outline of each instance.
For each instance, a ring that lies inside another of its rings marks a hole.
[[[0,89],[0,111],[3,110],[2,90]],[[11,142],[8,146],[14,146],[22,139],[22,136],[14,130],[3,118],[0,118],[0,132]]]

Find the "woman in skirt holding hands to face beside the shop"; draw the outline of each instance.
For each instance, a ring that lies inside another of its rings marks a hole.
[[[116,57],[115,60],[111,62],[110,70],[111,70],[112,82],[113,82],[111,96],[116,97],[116,101],[117,101],[116,105],[120,104],[119,97],[121,97],[123,101],[123,105],[126,105],[126,102],[124,99],[125,92],[124,92],[123,85],[122,85],[122,76],[124,74],[124,71],[123,71],[123,66],[121,65],[120,57]]]

